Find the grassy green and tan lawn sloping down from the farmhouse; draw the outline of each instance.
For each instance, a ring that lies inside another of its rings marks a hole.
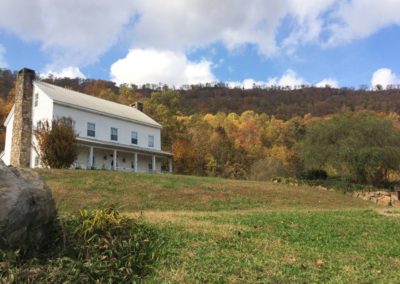
[[[166,237],[153,283],[400,283],[400,218],[307,186],[40,171],[61,214],[114,205]]]

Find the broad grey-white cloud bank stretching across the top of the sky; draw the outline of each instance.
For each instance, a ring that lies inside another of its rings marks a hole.
[[[0,29],[38,42],[57,69],[91,64],[117,43],[185,53],[222,43],[265,57],[337,45],[400,24],[396,0],[13,0]]]

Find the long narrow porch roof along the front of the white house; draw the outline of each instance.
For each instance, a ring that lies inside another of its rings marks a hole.
[[[93,146],[93,147],[110,149],[110,150],[116,149],[116,150],[121,150],[121,151],[137,152],[137,153],[164,156],[164,157],[172,157],[173,156],[172,153],[166,152],[166,151],[142,148],[142,147],[133,146],[133,145],[132,146],[124,145],[124,144],[115,143],[115,142],[105,142],[105,141],[100,141],[100,140],[90,139],[90,138],[83,138],[83,137],[77,137],[76,140],[78,142],[77,143],[78,145]]]

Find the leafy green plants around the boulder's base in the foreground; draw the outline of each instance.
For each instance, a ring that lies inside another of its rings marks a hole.
[[[55,223],[44,252],[0,250],[0,283],[132,283],[152,271],[162,245],[153,227],[115,210],[81,211]]]

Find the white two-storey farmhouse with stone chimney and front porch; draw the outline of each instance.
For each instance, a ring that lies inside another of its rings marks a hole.
[[[4,126],[6,142],[0,158],[7,165],[40,167],[33,130],[43,121],[69,117],[78,134],[74,167],[135,172],[172,171],[172,154],[161,150],[162,126],[142,112],[35,80],[35,72],[18,73],[15,105]]]

